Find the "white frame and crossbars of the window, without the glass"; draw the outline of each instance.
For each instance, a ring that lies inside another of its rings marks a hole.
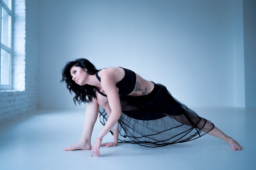
[[[13,21],[13,11],[12,11],[12,1],[10,0],[10,8],[8,7],[7,4],[3,0],[0,0],[0,67],[1,67],[1,55],[2,55],[2,49],[6,50],[10,56],[9,56],[9,85],[2,85],[0,84],[0,90],[12,90],[12,21]],[[9,31],[10,31],[10,42],[9,45],[10,47],[6,46],[5,44],[2,44],[2,7],[5,8],[5,10],[8,12],[10,15],[10,25],[9,25]],[[1,69],[0,69],[0,80],[1,80]]]

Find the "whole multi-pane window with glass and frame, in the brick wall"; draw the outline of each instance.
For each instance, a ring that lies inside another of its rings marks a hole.
[[[0,0],[0,90],[11,87],[11,35],[12,35],[12,0]]]

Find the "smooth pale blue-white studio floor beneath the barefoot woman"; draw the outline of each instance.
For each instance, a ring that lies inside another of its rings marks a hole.
[[[100,157],[90,157],[91,150],[62,151],[80,139],[84,111],[41,110],[0,127],[0,169],[256,169],[256,109],[194,110],[243,150],[233,151],[225,141],[205,135],[160,148],[120,143],[101,147]],[[101,127],[97,122],[92,142]],[[110,134],[103,138],[111,140]]]

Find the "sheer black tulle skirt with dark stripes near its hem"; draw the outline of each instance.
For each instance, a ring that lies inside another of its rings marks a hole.
[[[120,101],[123,114],[119,119],[119,142],[161,147],[194,140],[214,128],[214,124],[173,98],[161,84],[155,84],[148,95],[126,96]],[[107,113],[100,107],[99,114],[105,125]]]

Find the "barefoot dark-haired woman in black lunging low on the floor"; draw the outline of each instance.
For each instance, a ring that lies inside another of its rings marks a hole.
[[[92,130],[99,112],[104,126],[95,139],[91,156],[100,156],[100,146],[117,146],[119,140],[160,147],[194,140],[206,133],[225,140],[233,150],[242,149],[210,121],[173,98],[165,86],[147,81],[131,70],[97,70],[90,61],[80,58],[66,63],[61,82],[75,94],[75,104],[87,103],[82,137],[64,151],[91,149]],[[114,141],[102,144],[109,131]]]

